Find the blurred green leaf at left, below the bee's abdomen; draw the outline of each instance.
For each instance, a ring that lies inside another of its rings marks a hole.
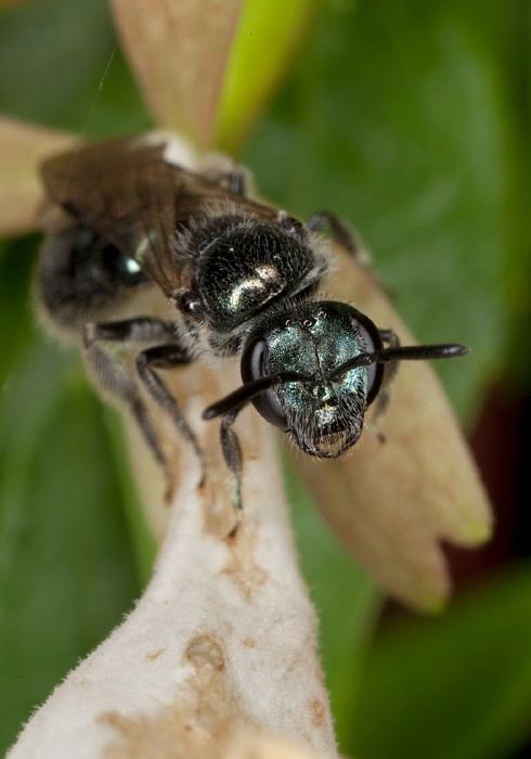
[[[0,751],[140,591],[101,409],[31,340],[0,404]]]

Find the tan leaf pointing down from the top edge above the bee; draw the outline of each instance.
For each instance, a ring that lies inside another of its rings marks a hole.
[[[211,144],[242,0],[112,0],[154,120]]]

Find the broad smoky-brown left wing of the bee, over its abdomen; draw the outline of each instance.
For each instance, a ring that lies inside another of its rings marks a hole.
[[[50,158],[42,177],[54,204],[134,258],[169,293],[182,284],[170,243],[183,172],[166,164],[163,152],[164,145],[133,150],[127,141],[81,147]]]

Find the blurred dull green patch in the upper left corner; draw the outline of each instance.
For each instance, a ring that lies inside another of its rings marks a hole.
[[[0,13],[0,113],[94,138],[151,126],[106,0],[28,0]]]

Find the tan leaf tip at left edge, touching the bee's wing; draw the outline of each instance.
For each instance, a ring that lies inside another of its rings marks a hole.
[[[0,234],[22,234],[37,228],[43,198],[39,164],[75,142],[65,132],[0,118]]]

